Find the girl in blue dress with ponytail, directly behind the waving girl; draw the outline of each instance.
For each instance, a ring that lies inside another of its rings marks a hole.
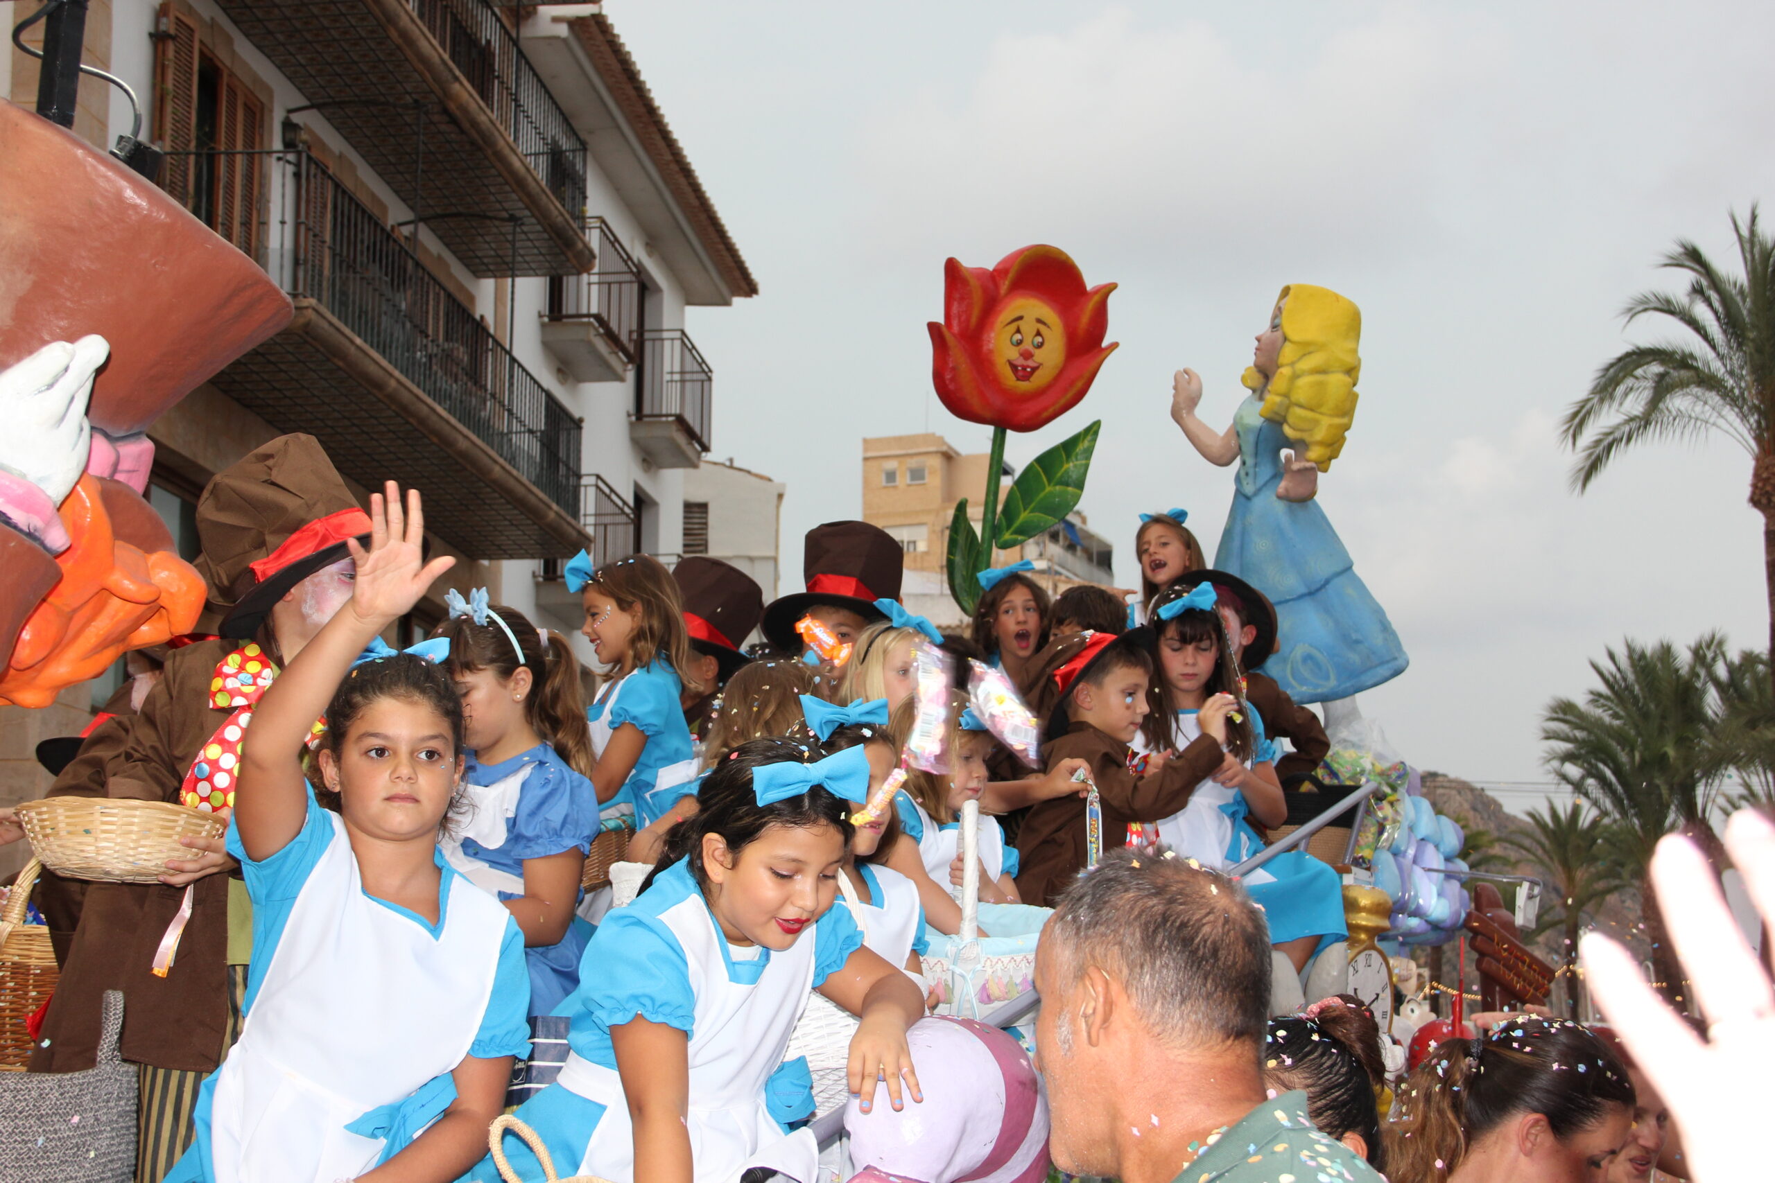
[[[573,915],[598,830],[579,662],[564,639],[543,639],[517,608],[488,605],[485,587],[444,599],[449,619],[435,635],[449,642],[444,669],[462,693],[472,809],[440,846],[518,921],[531,1015],[547,1015],[579,984],[591,940],[591,924]]]

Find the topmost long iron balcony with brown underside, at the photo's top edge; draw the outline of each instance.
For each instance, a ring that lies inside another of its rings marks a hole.
[[[470,271],[591,268],[586,142],[488,0],[218,4]]]

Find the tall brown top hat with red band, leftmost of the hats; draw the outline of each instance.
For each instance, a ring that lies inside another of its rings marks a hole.
[[[311,435],[277,436],[218,472],[197,498],[197,569],[234,603],[222,635],[257,633],[284,592],[367,536],[369,514]]]

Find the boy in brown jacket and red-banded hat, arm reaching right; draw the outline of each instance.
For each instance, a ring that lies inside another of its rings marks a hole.
[[[1182,752],[1157,754],[1141,775],[1129,772],[1129,743],[1152,709],[1150,630],[1120,637],[1074,633],[1037,654],[1040,681],[1033,706],[1044,715],[1042,759],[1056,768],[1067,759],[1090,764],[1102,800],[1102,846],[1127,844],[1131,821],[1159,821],[1180,811],[1195,787],[1219,770],[1219,743],[1200,736]],[[1017,832],[1022,869],[1017,894],[1024,903],[1054,906],[1072,876],[1086,866],[1085,793],[1030,807]]]

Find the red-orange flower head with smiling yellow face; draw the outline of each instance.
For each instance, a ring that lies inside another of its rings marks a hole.
[[[958,419],[1035,431],[1077,406],[1116,348],[1104,346],[1116,286],[1085,287],[1058,247],[1024,247],[990,270],[950,259],[943,280],[932,381]]]

